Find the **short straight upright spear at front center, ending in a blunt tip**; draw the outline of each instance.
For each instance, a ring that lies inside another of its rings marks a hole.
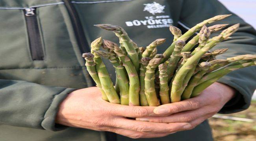
[[[162,63],[158,66],[160,72],[160,99],[161,104],[170,103],[167,65]]]

